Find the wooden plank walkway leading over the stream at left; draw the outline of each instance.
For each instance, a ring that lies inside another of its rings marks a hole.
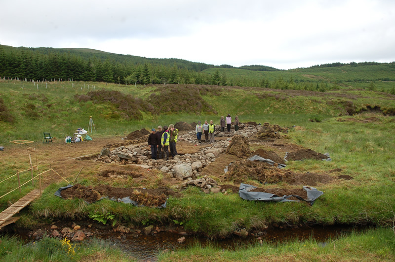
[[[16,213],[22,210],[25,206],[30,204],[34,199],[40,197],[40,189],[35,189],[25,197],[22,197],[14,204],[9,206],[3,212],[0,213],[0,229],[4,226],[7,226],[11,223],[15,223],[19,219],[19,217],[13,217]]]

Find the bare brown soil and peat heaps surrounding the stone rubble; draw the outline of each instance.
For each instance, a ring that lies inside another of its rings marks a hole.
[[[103,147],[110,147],[110,150],[112,150],[120,145],[145,143],[148,133],[148,131],[141,130],[131,132],[128,136],[132,139],[128,140],[122,137],[97,137],[93,133],[91,134],[92,141],[72,144],[65,144],[63,139],[56,139],[49,144],[36,142],[16,145],[10,143],[4,145],[5,149],[0,153],[0,163],[7,165],[15,163],[17,166],[23,166],[21,169],[24,167],[28,168],[30,155],[33,165],[37,165],[41,172],[49,169],[51,166],[59,174],[59,176],[53,176],[53,179],[59,182],[64,181],[63,179],[69,182],[73,181],[82,168],[78,179],[74,183],[75,186],[62,193],[66,194],[66,198],[79,197],[87,202],[93,202],[100,199],[100,197],[130,197],[141,205],[157,206],[164,203],[169,196],[179,196],[181,181],[177,181],[167,174],[161,174],[161,178],[158,179],[160,171],[156,169],[151,170],[138,166],[105,164],[93,161],[93,158],[100,153]],[[218,140],[222,140],[220,137],[218,138]],[[287,164],[284,162],[285,152],[290,152],[288,157],[292,156],[294,159],[298,157],[306,159],[311,156],[318,156],[317,159],[320,159],[321,154],[289,143],[288,139],[256,140],[256,138],[249,138],[240,140],[240,143],[243,143],[242,146],[245,147],[243,154],[221,154],[216,158],[215,162],[209,164],[201,171],[201,175],[212,177],[222,189],[233,193],[238,192],[240,183],[245,183],[251,179],[262,184],[281,183],[283,190],[293,189],[295,185],[318,186],[320,184],[333,183],[339,179],[352,179],[352,177],[342,175],[341,169],[328,173],[296,173],[288,169],[279,169],[270,164],[245,160],[249,156],[259,155],[279,164]],[[245,143],[249,143],[254,149],[258,149],[249,151],[249,149],[247,150],[248,145],[246,146]],[[201,147],[205,146],[210,145],[195,145],[194,143],[180,141],[177,143],[177,151],[179,154],[194,154]],[[310,154],[307,157],[306,152]],[[225,167],[229,168],[227,173],[224,171]],[[79,185],[79,182],[84,180],[93,180],[97,185],[95,187]],[[125,189],[120,186],[122,183],[126,184],[125,182],[130,180],[133,182],[132,188]],[[45,186],[49,183],[50,177],[46,173],[46,176],[43,176],[43,184]],[[143,190],[142,188],[147,189]]]

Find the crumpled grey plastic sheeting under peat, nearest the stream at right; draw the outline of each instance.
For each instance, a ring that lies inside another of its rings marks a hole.
[[[240,188],[238,190],[238,196],[245,200],[258,200],[258,201],[275,201],[275,202],[298,202],[299,200],[291,200],[288,199],[290,197],[296,197],[302,201],[309,202],[310,205],[313,205],[314,201],[324,193],[318,191],[316,188],[303,186],[303,189],[307,192],[307,199],[296,195],[289,196],[276,196],[274,194],[265,193],[265,192],[250,192],[250,190],[255,189],[256,187],[240,184]]]

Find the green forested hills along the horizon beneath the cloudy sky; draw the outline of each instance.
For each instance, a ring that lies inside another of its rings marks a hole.
[[[88,48],[0,45],[0,77],[118,84],[197,84],[395,93],[395,62],[331,63],[280,70],[270,66],[214,66],[183,59],[145,58]]]

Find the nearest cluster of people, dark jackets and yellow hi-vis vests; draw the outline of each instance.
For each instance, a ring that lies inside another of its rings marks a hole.
[[[164,159],[169,160],[169,147],[170,154],[172,157],[178,155],[176,143],[178,138],[178,129],[174,128],[171,124],[168,127],[158,126],[158,131],[153,128],[151,134],[148,136],[148,145],[151,148],[152,159]]]

